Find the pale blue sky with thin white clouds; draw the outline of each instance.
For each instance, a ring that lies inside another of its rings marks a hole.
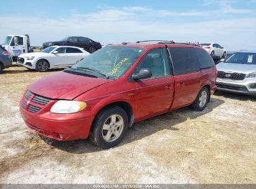
[[[31,45],[71,35],[103,45],[137,40],[217,42],[256,49],[256,0],[2,1],[0,42],[29,34]]]

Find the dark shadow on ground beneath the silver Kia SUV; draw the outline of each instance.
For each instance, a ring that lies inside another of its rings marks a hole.
[[[247,94],[237,94],[237,93],[229,93],[225,91],[216,91],[214,93],[216,96],[224,96],[229,99],[237,99],[239,101],[253,101],[256,102],[256,94],[255,96],[247,95]]]

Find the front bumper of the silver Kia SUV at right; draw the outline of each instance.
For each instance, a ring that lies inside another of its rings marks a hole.
[[[217,78],[217,90],[256,96],[256,78],[244,80],[224,80]]]

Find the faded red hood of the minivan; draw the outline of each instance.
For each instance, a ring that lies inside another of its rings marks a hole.
[[[28,86],[32,93],[53,99],[74,99],[86,91],[110,82],[100,78],[73,75],[59,71]]]

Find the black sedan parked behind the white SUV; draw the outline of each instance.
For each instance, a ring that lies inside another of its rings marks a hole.
[[[52,45],[67,45],[67,46],[75,46],[81,47],[84,50],[87,50],[90,53],[95,52],[96,50],[102,48],[100,42],[95,42],[92,39],[87,37],[79,37],[79,36],[72,36],[72,37],[65,37],[62,40],[55,41],[55,42],[45,42],[42,44],[43,48],[50,47]]]

